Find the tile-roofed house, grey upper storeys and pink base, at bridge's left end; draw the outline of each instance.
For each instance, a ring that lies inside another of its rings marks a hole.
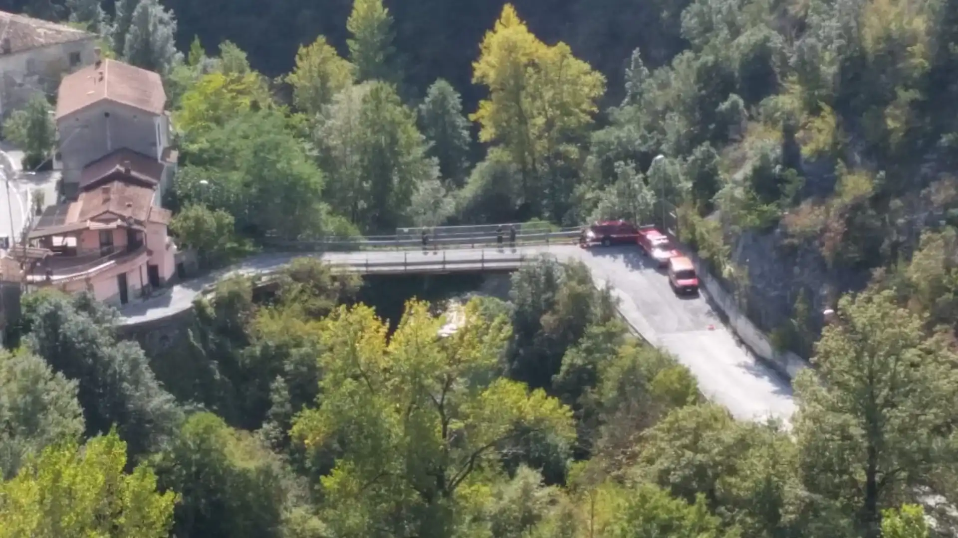
[[[96,56],[57,95],[58,160],[73,201],[47,208],[10,254],[28,290],[86,290],[119,305],[175,274],[171,213],[160,207],[175,151],[159,75]]]

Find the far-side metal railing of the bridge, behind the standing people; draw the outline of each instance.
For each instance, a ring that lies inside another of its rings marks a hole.
[[[568,244],[577,239],[581,234],[580,228],[563,228],[556,232],[551,231],[526,231],[522,233],[517,230],[515,235],[516,246],[533,246],[548,244]],[[502,238],[503,246],[509,246],[509,233],[504,232]],[[422,250],[422,235],[372,235],[366,237],[325,237],[315,240],[282,240],[279,238],[267,238],[265,243],[277,249],[291,252],[353,252],[366,250]],[[498,235],[493,227],[492,231],[482,230],[480,232],[464,231],[450,232],[446,231],[443,235],[428,235],[426,249],[488,249],[498,246]]]

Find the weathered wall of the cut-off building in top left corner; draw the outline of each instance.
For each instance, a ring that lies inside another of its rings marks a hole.
[[[37,92],[56,94],[63,75],[95,61],[95,46],[91,36],[89,39],[71,43],[0,56],[0,74],[3,80],[0,85],[0,117],[6,119],[12,111],[23,107]],[[72,53],[80,56],[79,62],[71,63]]]

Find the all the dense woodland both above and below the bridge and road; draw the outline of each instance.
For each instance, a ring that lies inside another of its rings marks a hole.
[[[955,2],[11,3],[163,76],[171,230],[207,265],[661,218],[746,308],[753,277],[811,269],[762,321],[816,369],[790,430],[736,422],[548,260],[445,338],[427,304],[391,332],[356,280],[298,260],[265,293],[221,282],[152,361],[109,309],[34,295],[0,358],[0,536],[924,537],[926,493],[958,499]],[[36,159],[48,110],[6,125]],[[117,499],[74,493],[104,481]],[[43,527],[64,510],[86,519]]]

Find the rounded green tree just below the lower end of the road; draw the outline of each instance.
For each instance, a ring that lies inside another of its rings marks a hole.
[[[691,405],[666,415],[644,437],[635,478],[689,503],[702,499],[745,536],[821,532],[806,527],[804,515],[814,507],[800,487],[795,444],[780,426],[737,422],[719,406]],[[839,530],[833,527],[833,535]]]

